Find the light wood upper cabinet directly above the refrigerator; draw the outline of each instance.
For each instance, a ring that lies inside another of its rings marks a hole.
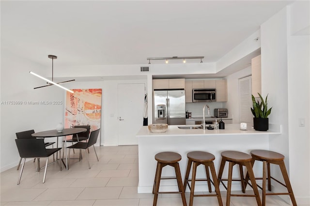
[[[153,79],[153,89],[185,89],[185,79]]]

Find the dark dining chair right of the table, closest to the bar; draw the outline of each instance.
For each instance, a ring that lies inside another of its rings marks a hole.
[[[99,159],[98,159],[98,156],[97,156],[97,153],[96,153],[96,149],[95,149],[95,146],[94,146],[94,144],[96,144],[96,142],[97,142],[99,132],[100,132],[100,129],[94,130],[93,132],[91,132],[91,135],[90,135],[90,137],[88,139],[88,142],[78,142],[78,143],[76,143],[76,144],[74,144],[72,146],[67,147],[67,148],[69,148],[69,162],[70,162],[70,150],[71,149],[79,149],[80,151],[82,149],[84,149],[85,156],[86,156],[86,159],[87,159],[87,162],[88,162],[88,168],[91,169],[91,165],[89,163],[88,155],[87,155],[87,152],[86,152],[86,149],[88,149],[91,146],[93,146],[93,150],[95,151],[95,155],[97,157],[97,161],[99,162]],[[69,164],[69,162],[68,162],[68,164]]]

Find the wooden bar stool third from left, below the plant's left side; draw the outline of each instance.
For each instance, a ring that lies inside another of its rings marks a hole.
[[[221,160],[221,164],[219,167],[218,179],[227,190],[226,206],[230,205],[231,196],[255,197],[257,205],[262,206],[262,202],[260,199],[260,195],[258,193],[254,173],[253,173],[252,166],[251,166],[252,157],[247,153],[238,152],[238,151],[223,151],[221,153],[221,156],[222,156],[222,160]],[[224,166],[225,166],[226,162],[229,162],[228,179],[222,179]],[[235,180],[232,178],[233,177],[233,165],[235,165],[235,164],[239,165],[240,179],[238,179],[238,180]],[[232,181],[241,181],[242,192],[243,193],[246,192],[246,187],[245,187],[246,181],[245,181],[245,178],[243,175],[243,166],[245,166],[248,170],[248,176],[249,176],[251,183],[252,183],[254,195],[252,195],[252,194],[231,194]],[[227,187],[225,186],[223,181],[228,181]]]

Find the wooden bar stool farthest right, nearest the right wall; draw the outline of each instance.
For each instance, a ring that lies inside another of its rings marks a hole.
[[[286,167],[284,163],[284,155],[278,152],[273,152],[273,151],[268,151],[268,150],[252,150],[251,155],[253,158],[251,162],[252,166],[254,165],[255,160],[263,162],[263,178],[256,178],[256,179],[263,179],[263,188],[258,186],[263,191],[263,195],[262,195],[263,206],[265,206],[266,204],[266,195],[283,195],[283,194],[290,195],[293,205],[297,206],[294,193],[293,193],[293,189],[290,183],[290,179],[287,175],[287,171],[286,171]],[[279,165],[285,184],[281,183],[279,180],[270,176],[270,164]],[[266,175],[266,169],[267,169],[267,175]],[[249,177],[247,174],[246,182],[248,182],[248,179]],[[275,180],[282,186],[286,187],[288,192],[266,193],[266,180],[268,180],[268,190],[271,191],[271,179]]]

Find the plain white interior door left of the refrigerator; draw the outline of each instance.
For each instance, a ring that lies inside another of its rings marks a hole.
[[[143,126],[145,84],[118,85],[118,145],[138,145]]]

